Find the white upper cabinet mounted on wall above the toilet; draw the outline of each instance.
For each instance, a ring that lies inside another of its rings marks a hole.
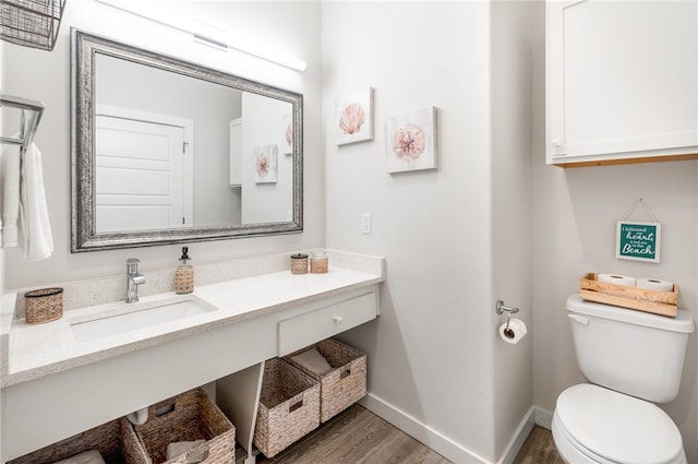
[[[698,1],[549,1],[547,164],[698,155]]]

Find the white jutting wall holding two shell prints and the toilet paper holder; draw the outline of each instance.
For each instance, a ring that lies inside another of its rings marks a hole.
[[[347,340],[369,354],[366,404],[454,462],[496,461],[532,398],[531,342],[503,346],[493,295],[530,318],[528,5],[495,11],[323,4],[327,246],[387,258],[381,318]],[[514,74],[491,75],[491,47],[516,57],[494,60],[492,73]],[[375,88],[374,140],[338,147],[335,98],[365,86]],[[386,118],[428,106],[438,108],[440,168],[386,174]],[[372,214],[371,235],[361,234],[362,213]],[[493,231],[509,213],[518,237]],[[513,273],[493,285],[508,259]]]

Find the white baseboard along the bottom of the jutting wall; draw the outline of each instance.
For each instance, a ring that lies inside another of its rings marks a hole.
[[[490,464],[488,460],[372,393],[364,396],[360,403],[366,409],[456,464]],[[552,418],[552,413],[531,406],[497,460],[497,464],[513,463],[533,426],[538,425],[550,430]]]

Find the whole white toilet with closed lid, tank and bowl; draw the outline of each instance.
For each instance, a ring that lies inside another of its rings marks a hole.
[[[557,397],[553,439],[567,463],[686,463],[678,428],[654,403],[678,394],[690,312],[675,318],[567,298],[579,368],[593,383]]]

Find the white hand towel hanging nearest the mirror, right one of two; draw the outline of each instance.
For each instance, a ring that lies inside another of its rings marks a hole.
[[[24,255],[29,260],[43,260],[53,252],[53,236],[46,206],[41,152],[35,144],[22,152],[20,179],[20,230]]]

